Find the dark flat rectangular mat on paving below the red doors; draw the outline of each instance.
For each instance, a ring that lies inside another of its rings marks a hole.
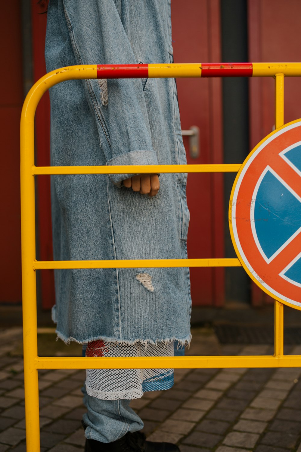
[[[220,344],[273,344],[274,327],[214,325]],[[301,344],[301,327],[284,328],[284,344]]]

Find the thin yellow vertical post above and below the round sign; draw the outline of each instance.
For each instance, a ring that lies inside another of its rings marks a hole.
[[[275,76],[275,129],[284,123],[284,75]],[[275,300],[274,356],[283,356],[283,304]]]

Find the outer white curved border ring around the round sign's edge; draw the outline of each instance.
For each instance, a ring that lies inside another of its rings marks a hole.
[[[273,135],[271,137],[269,137],[267,140],[265,140],[257,149],[256,151],[250,156],[250,158],[248,159],[248,161],[246,162],[246,164],[244,165],[243,169],[241,170],[241,174],[239,175],[239,178],[237,180],[236,186],[235,186],[235,190],[233,193],[233,198],[232,198],[232,212],[231,212],[231,219],[232,219],[232,231],[233,231],[233,236],[234,236],[234,240],[237,246],[237,249],[239,251],[239,254],[241,255],[241,259],[244,261],[246,267],[248,268],[248,270],[250,271],[250,273],[254,276],[255,279],[257,279],[257,281],[263,286],[265,287],[269,292],[275,294],[277,297],[281,298],[283,301],[286,301],[287,303],[291,303],[292,305],[295,306],[300,306],[301,307],[301,302],[300,301],[295,301],[295,300],[291,300],[288,297],[284,297],[283,294],[277,292],[276,290],[274,290],[272,287],[270,287],[266,282],[264,282],[259,276],[258,274],[255,272],[254,268],[252,268],[252,266],[250,265],[249,261],[247,260],[247,258],[245,257],[245,253],[243,252],[242,248],[241,248],[241,243],[239,241],[238,238],[238,234],[237,234],[237,229],[236,229],[236,201],[237,201],[237,194],[239,192],[240,186],[241,186],[241,180],[244,178],[246,171],[248,170],[250,164],[253,162],[253,160],[255,159],[255,157],[259,154],[260,151],[262,151],[262,149],[264,149],[264,147],[269,144],[271,141],[273,141],[275,138],[279,137],[280,135],[282,135],[282,133],[287,132],[288,130],[294,129],[295,127],[300,127],[301,125],[301,121],[295,122],[293,124],[291,124],[290,126],[284,127],[283,129],[279,130],[278,132],[273,133]],[[282,157],[283,158],[283,157]]]

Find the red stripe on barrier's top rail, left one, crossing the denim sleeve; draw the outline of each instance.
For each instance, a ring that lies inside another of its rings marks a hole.
[[[97,64],[97,79],[148,78],[148,64]]]

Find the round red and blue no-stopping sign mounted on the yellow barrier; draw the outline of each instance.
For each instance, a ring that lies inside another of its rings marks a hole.
[[[232,188],[229,224],[250,277],[301,310],[301,119],[272,132],[249,154]]]

